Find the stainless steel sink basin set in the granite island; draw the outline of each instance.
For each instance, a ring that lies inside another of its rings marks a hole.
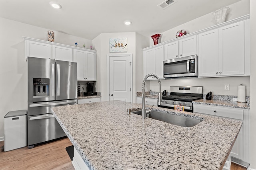
[[[139,110],[139,111],[133,111],[131,113],[141,115],[141,112],[142,111]],[[147,117],[156,119],[156,120],[160,120],[160,121],[164,121],[166,123],[171,123],[173,125],[183,126],[183,127],[192,127],[202,121],[202,120],[194,119],[191,117],[172,115],[172,114],[168,114],[168,113],[164,113],[164,112],[160,112],[160,111],[154,111],[154,110],[152,110],[152,112],[147,114]]]

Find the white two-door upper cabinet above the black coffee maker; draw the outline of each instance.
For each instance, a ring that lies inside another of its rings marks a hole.
[[[96,81],[96,53],[74,49],[77,80]]]

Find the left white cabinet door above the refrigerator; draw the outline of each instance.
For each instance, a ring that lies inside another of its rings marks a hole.
[[[25,41],[25,59],[27,60],[28,57],[52,59],[51,45],[46,43],[26,40]]]

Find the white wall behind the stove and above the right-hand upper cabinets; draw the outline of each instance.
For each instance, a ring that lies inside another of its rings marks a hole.
[[[228,12],[226,21],[233,20],[240,16],[250,14],[250,0],[241,0],[235,4],[228,6],[230,11]],[[170,29],[161,33],[161,42],[175,39],[177,30],[185,29],[188,33],[193,33],[211,27],[215,25],[213,15],[206,14],[200,18],[189,21],[178,27]],[[150,45],[153,45],[153,41],[150,39]],[[230,84],[230,90],[224,90],[224,84]],[[237,86],[244,84],[246,86],[246,96],[250,96],[250,76],[246,77],[229,77],[229,78],[179,78],[179,79],[168,79],[162,81],[162,90],[169,92],[170,86],[204,86],[204,94],[212,91],[213,94],[220,95],[232,95],[237,96]],[[158,91],[158,82],[150,81],[150,89],[152,91]]]

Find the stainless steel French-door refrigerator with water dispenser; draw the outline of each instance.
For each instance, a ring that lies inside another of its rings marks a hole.
[[[28,148],[66,136],[51,107],[77,104],[77,63],[28,57]]]

